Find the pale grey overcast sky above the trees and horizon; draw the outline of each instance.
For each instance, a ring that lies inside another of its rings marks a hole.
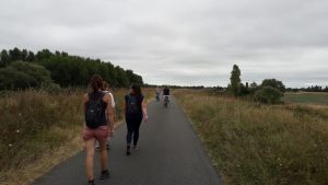
[[[147,83],[328,85],[326,0],[1,0],[0,49],[101,58]]]

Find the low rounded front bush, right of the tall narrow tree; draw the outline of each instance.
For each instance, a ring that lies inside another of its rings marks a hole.
[[[263,86],[255,92],[255,100],[261,103],[279,103],[283,93],[276,88]]]

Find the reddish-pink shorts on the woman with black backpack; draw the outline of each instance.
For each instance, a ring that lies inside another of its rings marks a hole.
[[[108,138],[108,126],[101,126],[95,129],[91,129],[91,128],[84,126],[83,140],[87,141],[93,138],[98,140],[99,142],[102,142],[102,141],[106,142],[106,139]]]

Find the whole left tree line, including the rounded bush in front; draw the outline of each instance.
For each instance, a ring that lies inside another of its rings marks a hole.
[[[142,77],[109,61],[72,56],[65,51],[43,49],[2,49],[0,53],[0,90],[26,89],[55,83],[60,86],[84,86],[97,73],[110,85],[122,88],[143,84]]]

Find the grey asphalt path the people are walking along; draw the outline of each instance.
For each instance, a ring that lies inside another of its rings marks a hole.
[[[149,122],[140,129],[139,150],[130,157],[126,150],[126,125],[120,126],[109,151],[110,177],[96,185],[220,185],[200,140],[178,105],[168,108],[160,103],[149,105]],[[85,152],[68,159],[33,185],[84,185]],[[98,155],[95,177],[99,175]]]

